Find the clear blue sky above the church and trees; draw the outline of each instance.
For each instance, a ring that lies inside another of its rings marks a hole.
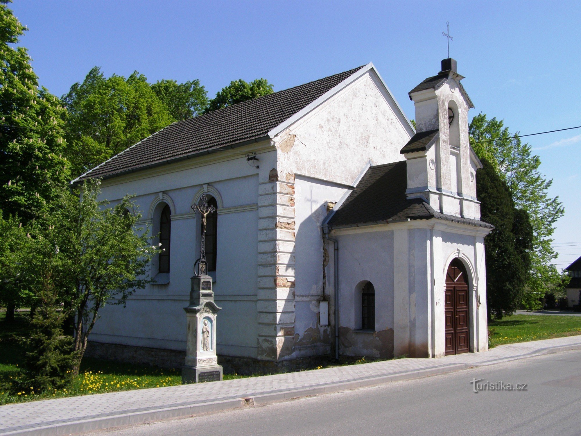
[[[521,134],[581,125],[581,2],[15,0],[41,84],[62,95],[93,66],[149,81],[231,80],[275,90],[373,62],[409,118],[407,96],[450,55],[479,112]],[[565,216],[555,242],[581,242],[581,129],[529,138]],[[561,247],[558,266],[581,255]]]

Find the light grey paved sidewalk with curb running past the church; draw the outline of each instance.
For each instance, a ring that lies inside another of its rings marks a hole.
[[[0,434],[63,435],[192,416],[581,349],[581,336],[501,345],[440,359],[396,359],[222,382],[0,406]]]

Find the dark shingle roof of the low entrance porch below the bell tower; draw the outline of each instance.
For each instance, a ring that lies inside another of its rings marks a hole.
[[[407,199],[406,161],[370,167],[353,192],[329,220],[328,225],[350,226],[432,218],[493,228],[484,221],[436,212],[421,198]]]

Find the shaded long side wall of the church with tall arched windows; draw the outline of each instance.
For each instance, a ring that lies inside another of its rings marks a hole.
[[[257,156],[261,163],[274,165],[275,154]],[[193,263],[199,257],[199,217],[191,205],[206,189],[210,195],[218,192],[221,200],[214,298],[223,310],[217,319],[217,352],[256,358],[257,173],[243,155],[217,153],[200,162],[192,159],[103,181],[102,198],[114,202],[125,194],[135,195],[144,215],[141,225],[153,223],[155,217],[149,214],[159,209],[156,203],[171,203],[170,280],[138,290],[126,308],[105,306],[92,341],[185,350],[183,308],[189,301]]]

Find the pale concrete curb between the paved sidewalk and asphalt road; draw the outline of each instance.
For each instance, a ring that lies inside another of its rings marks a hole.
[[[2,436],[8,435],[35,435],[35,436],[62,436],[71,433],[83,433],[86,431],[105,430],[107,428],[130,426],[143,424],[151,421],[162,421],[178,417],[196,416],[205,413],[222,412],[225,410],[241,409],[246,407],[264,406],[277,402],[289,401],[307,396],[334,394],[336,392],[378,386],[395,381],[417,380],[446,374],[474,367],[490,366],[497,363],[511,362],[512,360],[526,359],[534,356],[547,355],[562,351],[572,351],[581,349],[581,344],[549,346],[536,349],[533,352],[518,356],[510,356],[503,359],[493,360],[485,363],[457,363],[437,368],[408,371],[400,374],[390,374],[388,376],[371,377],[363,380],[334,383],[312,388],[301,388],[290,391],[272,392],[269,394],[253,395],[245,398],[234,398],[221,401],[197,403],[191,405],[180,405],[177,407],[146,410],[143,412],[123,413],[112,416],[103,416],[94,419],[78,420],[73,422],[63,421],[58,424],[26,428],[22,430],[0,433]]]

